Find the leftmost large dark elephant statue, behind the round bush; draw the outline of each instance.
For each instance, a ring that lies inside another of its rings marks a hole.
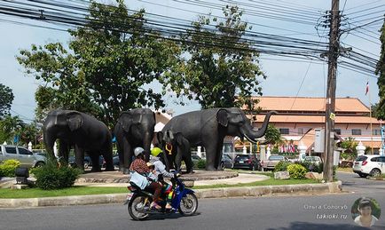
[[[114,171],[112,135],[105,123],[75,110],[52,110],[43,124],[43,141],[53,155],[59,139],[59,156],[68,163],[68,152],[75,147],[75,164],[84,171],[84,152],[90,155],[91,171],[100,171],[99,155],[106,161],[106,171]]]

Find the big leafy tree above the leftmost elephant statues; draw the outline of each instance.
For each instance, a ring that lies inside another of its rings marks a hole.
[[[172,75],[178,46],[145,25],[144,10],[129,14],[122,1],[92,2],[89,12],[86,25],[70,31],[70,51],[46,44],[20,52],[27,74],[45,83],[35,94],[40,111],[75,109],[111,126],[124,110],[163,107],[161,92],[145,85]]]

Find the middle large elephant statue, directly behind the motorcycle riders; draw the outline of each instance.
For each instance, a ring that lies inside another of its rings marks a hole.
[[[145,149],[145,160],[150,158],[155,114],[149,108],[134,108],[122,112],[114,128],[119,153],[119,171],[130,173],[135,147]]]

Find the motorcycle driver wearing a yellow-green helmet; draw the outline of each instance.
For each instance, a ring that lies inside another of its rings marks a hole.
[[[169,171],[166,171],[166,165],[162,163],[162,158],[167,157],[166,155],[163,154],[163,151],[161,151],[161,148],[159,147],[153,147],[151,150],[151,157],[150,157],[150,163],[153,164],[154,170],[155,170],[155,176],[158,177],[158,181],[161,182],[162,184],[162,193],[167,194],[166,197],[166,210],[170,210],[171,207],[171,200],[172,200],[172,186],[170,186],[168,183],[166,183],[163,178],[176,178],[180,174],[179,173],[171,173]]]

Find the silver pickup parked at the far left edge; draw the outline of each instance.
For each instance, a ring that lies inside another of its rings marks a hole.
[[[25,147],[0,145],[0,163],[9,159],[18,160],[21,167],[27,168],[43,166],[46,160],[43,155],[34,154]]]

